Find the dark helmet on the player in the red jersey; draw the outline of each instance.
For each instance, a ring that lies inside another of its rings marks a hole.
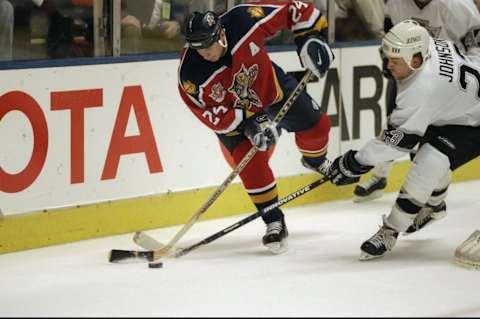
[[[193,49],[206,49],[220,39],[222,23],[213,11],[193,12],[185,25],[187,45]]]

